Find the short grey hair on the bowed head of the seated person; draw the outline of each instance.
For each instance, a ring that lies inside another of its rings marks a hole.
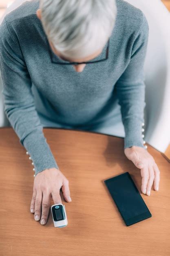
[[[40,0],[42,26],[56,50],[84,58],[106,44],[115,25],[115,0]]]

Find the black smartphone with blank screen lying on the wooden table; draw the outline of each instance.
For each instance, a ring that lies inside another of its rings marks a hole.
[[[104,180],[126,226],[152,217],[128,172]]]

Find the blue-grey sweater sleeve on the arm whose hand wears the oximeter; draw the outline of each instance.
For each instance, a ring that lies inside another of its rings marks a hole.
[[[11,33],[5,18],[0,26],[0,68],[4,111],[33,161],[35,175],[47,168],[58,168],[35,109],[31,78],[18,37]]]

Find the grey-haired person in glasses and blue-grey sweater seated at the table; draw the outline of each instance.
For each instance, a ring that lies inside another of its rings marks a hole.
[[[142,193],[152,184],[158,191],[160,171],[142,137],[148,22],[140,9],[123,0],[27,1],[5,16],[0,38],[4,109],[33,161],[35,220],[46,223],[60,188],[71,202],[45,126],[100,132],[122,121]]]

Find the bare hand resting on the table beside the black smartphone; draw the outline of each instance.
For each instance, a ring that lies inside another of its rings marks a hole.
[[[153,182],[154,189],[158,191],[160,171],[152,155],[150,155],[150,153],[145,148],[138,146],[125,148],[124,153],[126,157],[131,160],[137,168],[141,169],[142,193],[150,195]]]

